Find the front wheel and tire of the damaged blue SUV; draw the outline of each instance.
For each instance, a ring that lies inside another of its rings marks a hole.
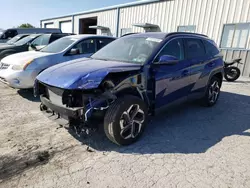
[[[105,114],[104,132],[115,144],[130,145],[142,135],[147,115],[148,108],[140,98],[131,95],[118,98]]]

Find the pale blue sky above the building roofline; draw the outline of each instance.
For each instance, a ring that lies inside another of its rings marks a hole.
[[[12,28],[22,23],[39,27],[44,18],[133,1],[136,0],[3,0],[0,28]]]

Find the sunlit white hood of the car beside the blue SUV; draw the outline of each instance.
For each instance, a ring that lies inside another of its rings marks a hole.
[[[45,53],[39,51],[29,51],[29,52],[21,52],[13,55],[9,55],[1,60],[2,63],[6,63],[9,65],[23,65],[28,61],[34,60],[39,57],[45,57],[48,55],[53,55],[52,53]]]

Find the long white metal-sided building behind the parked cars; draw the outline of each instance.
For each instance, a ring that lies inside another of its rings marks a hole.
[[[187,31],[208,35],[226,60],[241,57],[250,77],[250,0],[143,0],[41,20],[76,34]]]

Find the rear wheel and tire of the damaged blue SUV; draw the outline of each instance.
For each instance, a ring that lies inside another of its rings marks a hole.
[[[214,76],[209,81],[205,96],[201,99],[203,106],[211,107],[214,106],[220,96],[222,80]]]

